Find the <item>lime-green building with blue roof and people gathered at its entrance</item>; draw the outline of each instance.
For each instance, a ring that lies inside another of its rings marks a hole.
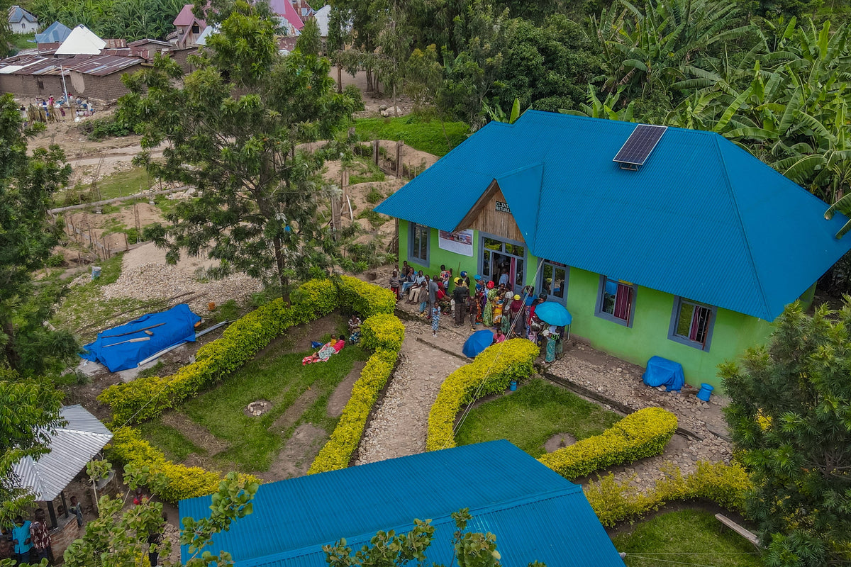
[[[490,122],[375,210],[400,219],[400,261],[534,286],[592,346],[717,387],[717,365],[851,249],[846,218],[717,133],[667,128],[643,165],[614,162],[636,128]]]

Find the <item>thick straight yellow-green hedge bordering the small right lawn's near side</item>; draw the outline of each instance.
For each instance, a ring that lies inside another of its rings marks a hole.
[[[577,441],[538,459],[566,479],[660,455],[677,431],[677,416],[648,407],[624,417],[602,434]]]

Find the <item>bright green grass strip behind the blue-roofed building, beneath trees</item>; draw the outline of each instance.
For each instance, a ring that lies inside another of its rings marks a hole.
[[[412,114],[397,118],[359,118],[355,121],[355,132],[363,141],[401,139],[414,150],[427,151],[435,156],[445,156],[449,150],[467,138],[470,128],[464,122],[444,122],[442,126],[437,119]],[[447,137],[449,144],[447,144]]]

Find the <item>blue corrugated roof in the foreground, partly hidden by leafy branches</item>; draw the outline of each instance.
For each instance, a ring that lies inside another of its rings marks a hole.
[[[210,496],[180,501],[180,518],[209,514]],[[508,441],[490,441],[261,485],[254,513],[214,537],[236,567],[323,567],[323,545],[358,550],[378,530],[407,533],[431,519],[431,562],[449,564],[451,513],[470,508],[468,531],[491,532],[505,567],[624,567],[582,487]],[[188,548],[181,547],[186,561]]]

